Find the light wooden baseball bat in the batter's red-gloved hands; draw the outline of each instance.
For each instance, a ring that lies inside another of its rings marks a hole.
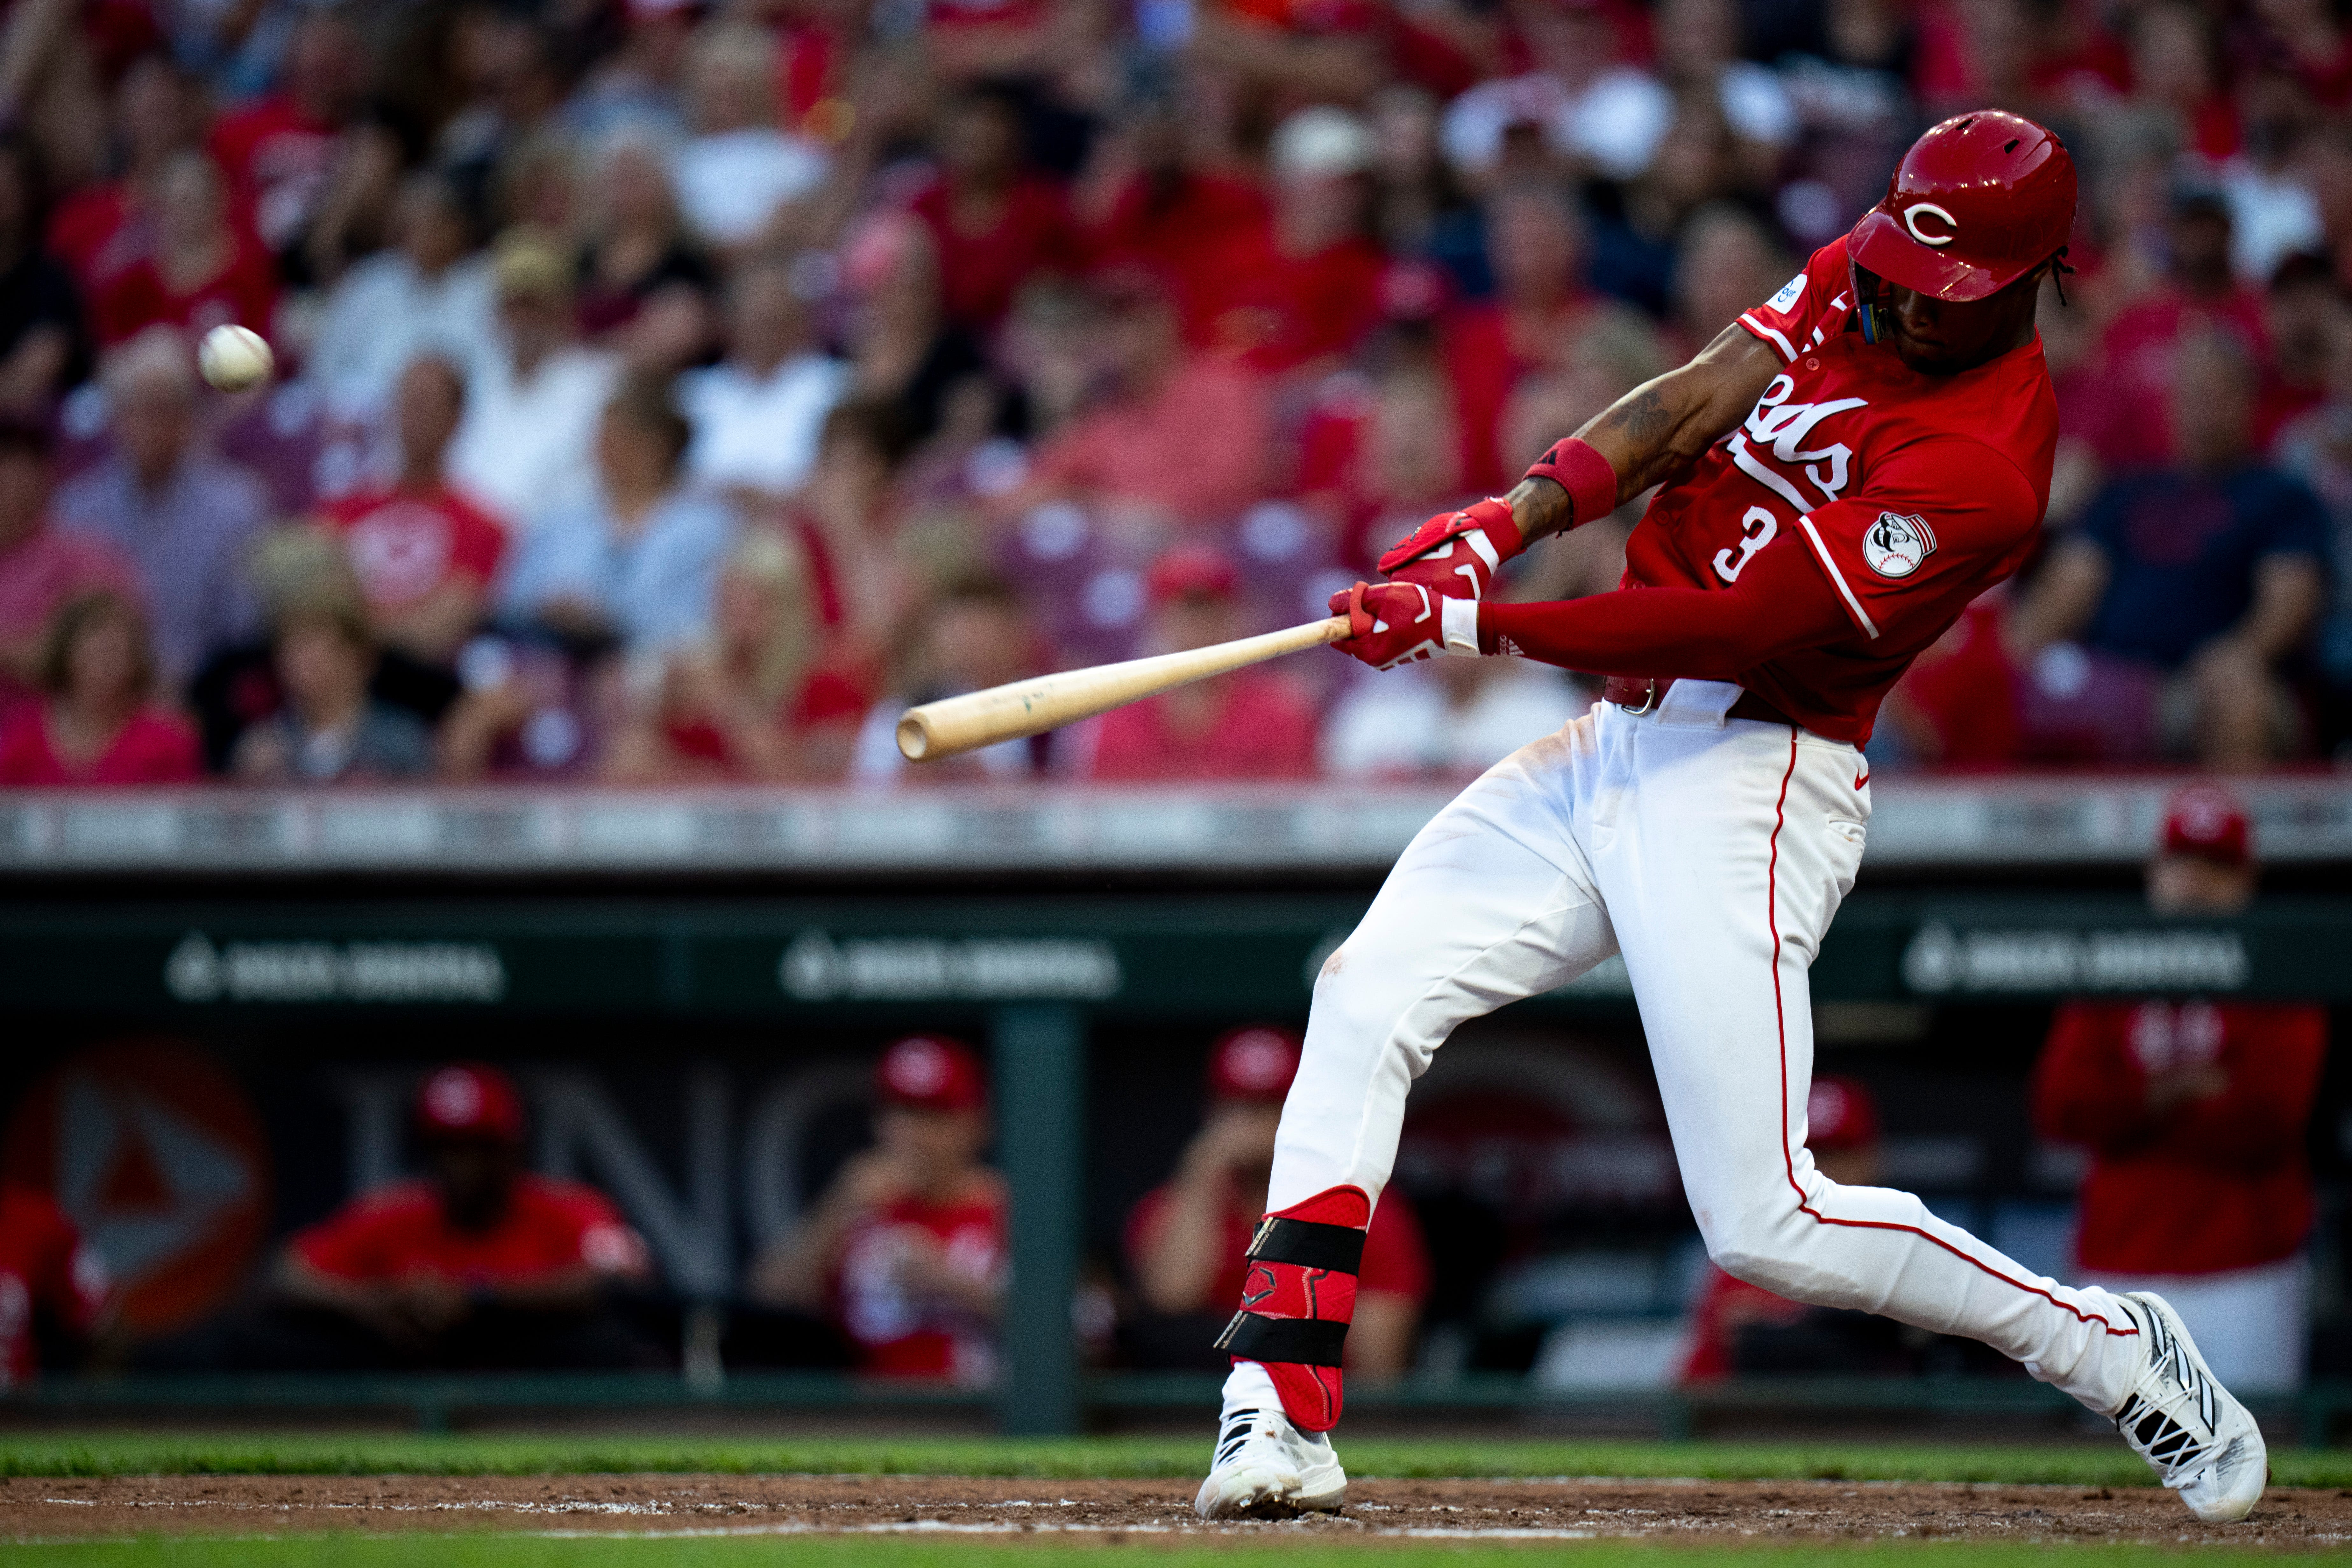
[[[1319,649],[1348,635],[1348,616],[1308,621],[1279,632],[1211,642],[1183,654],[1155,654],[1117,665],[1063,670],[1033,679],[950,696],[922,708],[908,708],[898,719],[898,750],[908,762],[936,762],[997,741],[1040,736],[1063,724],[1091,719],[1124,703],[1157,696],[1225,670],[1240,670],[1298,649]]]

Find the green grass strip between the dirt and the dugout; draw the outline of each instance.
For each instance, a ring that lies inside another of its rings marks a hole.
[[[1348,1439],[1355,1476],[1703,1476],[1757,1481],[2058,1481],[2152,1486],[2122,1443],[1609,1443]],[[1190,1479],[1200,1436],[1105,1439],[696,1439],[696,1436],[402,1436],[402,1434],[0,1434],[0,1476],[546,1476],[628,1472],[1145,1476]],[[2279,1448],[2279,1486],[2352,1486],[2352,1450]]]

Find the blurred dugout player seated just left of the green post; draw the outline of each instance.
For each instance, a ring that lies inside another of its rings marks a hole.
[[[875,1100],[875,1145],[760,1260],[753,1298],[823,1312],[870,1373],[990,1382],[1009,1234],[1004,1178],[981,1164],[981,1058],[913,1034],[882,1053]]]

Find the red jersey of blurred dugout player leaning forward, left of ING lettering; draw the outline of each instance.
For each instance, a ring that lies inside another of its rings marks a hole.
[[[294,1237],[294,1255],[339,1279],[437,1274],[496,1286],[588,1267],[642,1274],[644,1239],[595,1187],[546,1175],[515,1178],[506,1215],[489,1229],[456,1229],[430,1182],[395,1182],[353,1199]]]

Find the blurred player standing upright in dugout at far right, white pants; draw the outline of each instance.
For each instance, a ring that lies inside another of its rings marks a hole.
[[[2253,900],[2251,825],[2218,785],[2183,790],[2147,865],[2159,914]],[[2321,1006],[2067,1001],[2034,1070],[2034,1126],[2091,1150],[2084,1284],[2161,1291],[2232,1389],[2303,1382],[2312,1173],[2303,1138],[2328,1048]]]

